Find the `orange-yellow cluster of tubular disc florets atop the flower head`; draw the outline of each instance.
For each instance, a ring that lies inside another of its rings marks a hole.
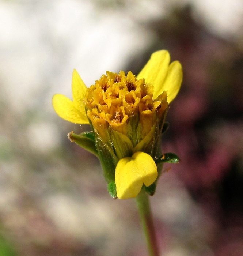
[[[93,127],[105,138],[108,126],[126,135],[129,117],[135,114],[138,114],[144,137],[157,113],[165,110],[168,103],[166,91],[153,100],[153,85],[146,84],[143,78],[138,80],[131,71],[127,75],[124,71],[119,74],[107,71],[87,89],[85,105]]]

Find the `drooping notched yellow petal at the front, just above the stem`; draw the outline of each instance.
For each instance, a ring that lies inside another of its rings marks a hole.
[[[157,166],[153,158],[144,152],[136,152],[132,157],[120,159],[115,168],[117,197],[119,199],[136,197],[143,184],[151,185],[157,176]]]

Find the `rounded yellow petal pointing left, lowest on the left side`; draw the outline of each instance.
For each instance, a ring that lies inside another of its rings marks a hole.
[[[80,112],[73,102],[62,94],[55,94],[52,98],[52,105],[58,116],[61,118],[77,124],[88,124],[86,114]]]

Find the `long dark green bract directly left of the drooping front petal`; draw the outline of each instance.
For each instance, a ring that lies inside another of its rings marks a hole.
[[[104,177],[107,183],[110,183],[115,180],[115,167],[117,166],[118,158],[113,148],[105,143],[97,132],[95,132],[95,146],[98,151]]]

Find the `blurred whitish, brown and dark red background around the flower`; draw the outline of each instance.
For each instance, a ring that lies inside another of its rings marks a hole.
[[[113,200],[86,131],[54,113],[106,70],[138,74],[167,49],[183,65],[151,198],[163,256],[243,255],[243,2],[0,0],[0,255],[146,256],[133,199]]]

